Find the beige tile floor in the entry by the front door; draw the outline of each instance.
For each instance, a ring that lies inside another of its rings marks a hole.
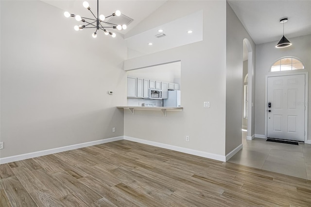
[[[299,145],[269,142],[263,138],[246,140],[243,149],[228,162],[311,180],[311,144]]]

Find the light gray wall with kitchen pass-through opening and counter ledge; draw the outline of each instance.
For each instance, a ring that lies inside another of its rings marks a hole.
[[[226,2],[168,1],[135,31],[146,31],[199,10],[203,10],[203,41],[124,63],[128,70],[181,60],[183,111],[168,111],[163,117],[159,111],[135,111],[132,115],[125,110],[124,135],[225,156]],[[210,102],[210,108],[203,108],[205,101]],[[190,136],[189,142],[186,136]]]

